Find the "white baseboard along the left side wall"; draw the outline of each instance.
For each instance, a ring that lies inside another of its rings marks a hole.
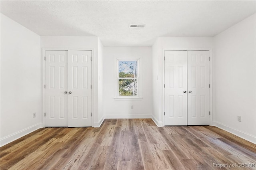
[[[35,130],[42,128],[42,123],[37,123],[36,125],[33,125],[31,127],[28,128],[24,128],[18,132],[15,132],[13,134],[10,134],[4,138],[0,139],[0,147],[18,139],[21,138],[22,136],[25,136],[26,134],[29,134],[31,132],[34,132]]]

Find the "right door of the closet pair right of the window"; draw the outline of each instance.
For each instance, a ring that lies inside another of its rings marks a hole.
[[[209,51],[188,51],[188,125],[209,125]]]

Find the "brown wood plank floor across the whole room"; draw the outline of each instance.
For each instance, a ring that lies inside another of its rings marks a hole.
[[[100,128],[41,128],[2,146],[0,169],[187,170],[256,164],[256,145],[210,126],[106,119]],[[215,164],[215,167],[214,167]]]

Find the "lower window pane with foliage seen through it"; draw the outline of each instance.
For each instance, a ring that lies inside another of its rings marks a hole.
[[[137,79],[119,79],[118,86],[120,96],[137,95]]]

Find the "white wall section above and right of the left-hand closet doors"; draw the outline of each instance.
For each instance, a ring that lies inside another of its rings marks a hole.
[[[98,127],[99,114],[99,66],[98,66],[98,37],[78,36],[42,36],[41,47],[51,49],[88,49],[92,50],[92,126]],[[96,123],[96,124],[95,124]]]

